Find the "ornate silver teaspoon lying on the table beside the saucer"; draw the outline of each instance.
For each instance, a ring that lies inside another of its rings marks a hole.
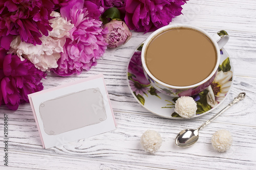
[[[178,147],[190,147],[191,145],[195,144],[199,138],[199,131],[204,128],[206,125],[211,123],[212,120],[214,120],[216,117],[218,117],[221,113],[226,111],[228,108],[233,106],[235,103],[239,102],[240,100],[243,100],[245,98],[245,92],[239,93],[237,98],[234,98],[232,102],[230,102],[224,109],[222,109],[219,113],[211,117],[209,120],[207,120],[203,125],[201,125],[198,129],[184,129],[182,130],[176,137],[175,143],[178,145]]]

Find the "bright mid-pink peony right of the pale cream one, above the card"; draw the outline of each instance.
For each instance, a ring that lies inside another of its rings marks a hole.
[[[74,27],[57,61],[58,68],[53,71],[60,76],[75,73],[79,75],[83,69],[89,70],[95,66],[96,60],[104,54],[107,44],[104,42],[103,35],[108,31],[102,29],[101,21],[87,16],[86,8],[77,9],[77,6],[74,6],[69,10],[70,13],[63,11],[60,10],[61,16],[70,17]]]

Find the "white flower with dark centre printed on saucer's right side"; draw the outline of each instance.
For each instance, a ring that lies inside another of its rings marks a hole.
[[[207,103],[211,107],[217,106],[224,98],[229,90],[232,82],[229,81],[232,78],[232,71],[219,71],[214,82],[207,88]]]

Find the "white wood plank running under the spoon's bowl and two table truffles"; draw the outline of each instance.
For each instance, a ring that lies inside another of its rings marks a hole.
[[[256,134],[251,133],[255,127],[212,123],[200,132],[198,143],[184,149],[178,148],[174,144],[174,139],[184,128],[199,127],[201,124],[195,119],[180,121],[132,113],[116,113],[115,116],[118,123],[115,131],[47,150],[41,147],[35,123],[16,124],[10,118],[9,148],[10,151],[17,152],[35,152],[160,168],[210,169],[209,162],[211,167],[216,169],[227,169],[227,167],[253,169],[256,166],[256,140],[254,140]],[[147,129],[158,131],[163,138],[162,147],[154,155],[145,153],[140,147],[140,136]],[[210,144],[211,135],[219,129],[227,129],[233,136],[233,145],[226,153],[214,151]],[[2,137],[1,134],[1,139]],[[189,160],[200,160],[200,164]]]

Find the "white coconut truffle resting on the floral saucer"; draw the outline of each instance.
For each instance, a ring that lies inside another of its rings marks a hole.
[[[174,111],[181,117],[190,118],[196,115],[197,103],[190,96],[181,96],[175,103]]]

